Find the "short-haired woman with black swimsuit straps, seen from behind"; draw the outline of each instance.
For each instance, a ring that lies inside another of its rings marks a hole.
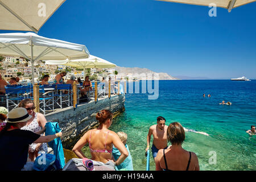
[[[180,123],[174,122],[168,126],[167,139],[172,146],[158,151],[155,157],[156,171],[199,171],[196,154],[181,147],[185,131]]]

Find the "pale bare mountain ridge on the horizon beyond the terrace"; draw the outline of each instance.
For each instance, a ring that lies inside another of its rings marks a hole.
[[[134,68],[126,68],[126,67],[115,67],[115,70],[118,72],[118,74],[123,74],[123,75],[138,75],[140,76],[142,73],[145,73],[146,75],[148,73],[154,74],[156,72],[151,71],[150,69],[147,68],[138,68],[138,67],[134,67]],[[175,78],[172,77],[170,75],[168,75],[167,73],[158,73],[159,75],[159,80],[180,80],[179,78]],[[138,77],[139,79],[141,79],[140,77]]]

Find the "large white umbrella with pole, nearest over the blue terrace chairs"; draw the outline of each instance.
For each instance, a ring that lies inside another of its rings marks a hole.
[[[35,60],[82,59],[89,56],[89,51],[81,44],[44,38],[27,32],[0,34],[0,55],[22,56],[30,60],[34,85]]]

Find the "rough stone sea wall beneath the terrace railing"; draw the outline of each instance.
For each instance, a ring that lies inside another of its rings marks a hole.
[[[97,102],[78,105],[74,110],[73,107],[59,109],[53,113],[46,114],[48,122],[58,122],[63,136],[61,142],[64,148],[72,149],[82,135],[98,126],[95,114],[102,109],[108,109],[113,114],[122,112],[125,108],[125,94],[113,95],[110,99],[108,96],[99,98]]]

